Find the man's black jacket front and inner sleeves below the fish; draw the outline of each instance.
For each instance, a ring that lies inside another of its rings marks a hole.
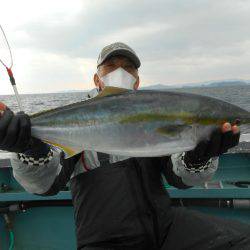
[[[63,171],[43,195],[60,191],[78,159],[79,155],[63,161]],[[78,249],[103,243],[122,244],[125,249],[129,246],[140,249],[143,245],[159,249],[172,221],[162,174],[171,185],[188,188],[172,172],[171,158],[130,158],[113,164],[104,159],[101,162],[103,167],[70,180]]]

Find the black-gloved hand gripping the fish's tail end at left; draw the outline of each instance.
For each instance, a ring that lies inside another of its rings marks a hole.
[[[31,141],[30,118],[24,112],[14,114],[0,102],[0,149],[21,153]]]

